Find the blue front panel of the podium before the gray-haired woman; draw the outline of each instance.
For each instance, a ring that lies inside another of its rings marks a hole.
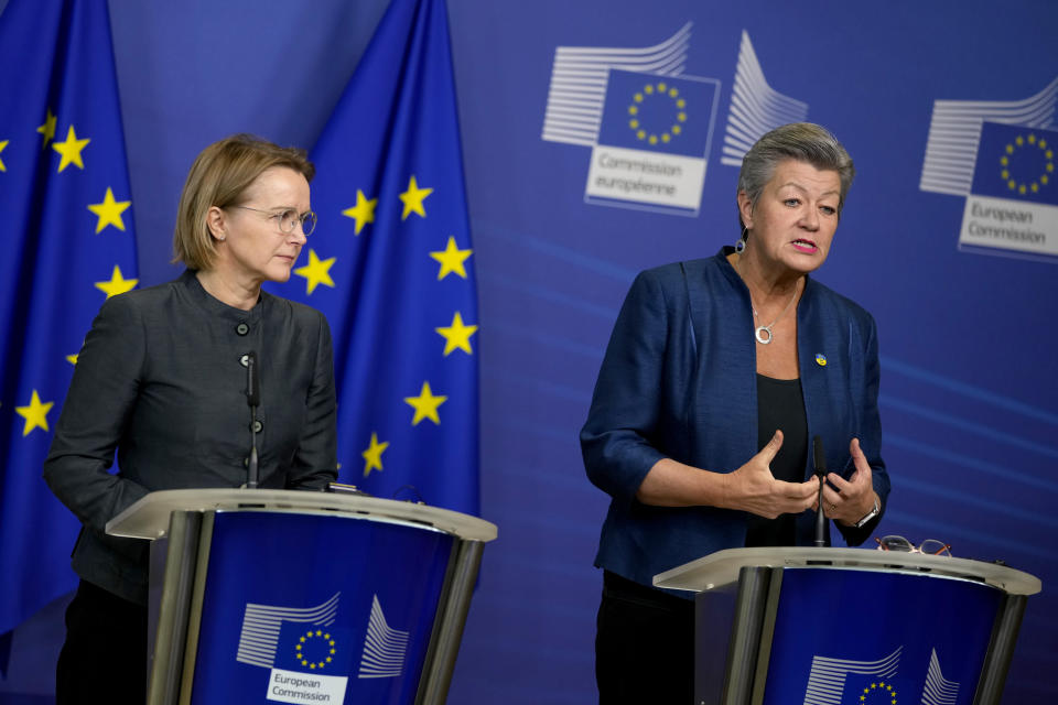
[[[788,568],[763,703],[970,705],[1001,600],[969,581]]]

